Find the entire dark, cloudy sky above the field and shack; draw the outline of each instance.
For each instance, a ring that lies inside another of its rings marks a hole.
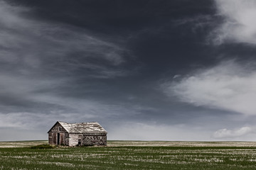
[[[0,140],[256,140],[255,0],[0,0]]]

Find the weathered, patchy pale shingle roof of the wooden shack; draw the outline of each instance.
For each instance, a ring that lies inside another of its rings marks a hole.
[[[60,125],[68,132],[68,133],[105,133],[107,131],[102,128],[102,126],[97,122],[89,122],[89,123],[65,123],[58,121]],[[55,125],[57,124],[55,123]],[[55,126],[53,125],[53,127]],[[50,128],[51,130],[52,128]],[[49,130],[49,132],[50,132]]]

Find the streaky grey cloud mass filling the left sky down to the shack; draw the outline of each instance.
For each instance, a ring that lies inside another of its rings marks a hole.
[[[30,16],[33,8],[0,0],[0,128],[128,113],[83,95],[95,90],[92,81],[132,72],[122,67],[127,61],[122,45],[83,28]]]

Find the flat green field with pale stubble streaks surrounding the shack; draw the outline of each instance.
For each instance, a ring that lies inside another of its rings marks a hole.
[[[108,147],[31,149],[0,142],[0,169],[256,169],[256,142],[108,141]]]

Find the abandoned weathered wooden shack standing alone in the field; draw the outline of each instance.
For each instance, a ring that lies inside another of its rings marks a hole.
[[[48,131],[49,145],[107,146],[107,131],[97,122],[56,122]]]

